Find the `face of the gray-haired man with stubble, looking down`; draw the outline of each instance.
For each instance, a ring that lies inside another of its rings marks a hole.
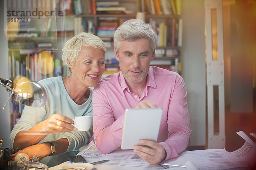
[[[127,83],[146,83],[150,62],[154,58],[154,51],[147,39],[123,40],[118,53],[115,49],[115,56]]]

